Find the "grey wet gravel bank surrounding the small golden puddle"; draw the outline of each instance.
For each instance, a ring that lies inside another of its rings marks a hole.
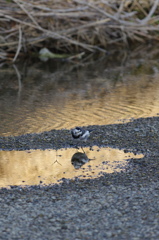
[[[0,239],[159,239],[159,118],[88,128],[94,130],[89,144],[145,157],[132,159],[125,172],[98,179],[1,189]],[[1,137],[0,148],[70,147],[68,133]]]

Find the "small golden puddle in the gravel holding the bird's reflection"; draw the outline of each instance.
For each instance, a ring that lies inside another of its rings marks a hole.
[[[83,152],[84,151],[84,152]],[[97,178],[124,171],[143,155],[112,148],[0,151],[0,187],[59,183],[62,178]]]

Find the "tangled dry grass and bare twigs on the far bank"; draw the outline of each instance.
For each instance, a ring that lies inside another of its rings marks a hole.
[[[159,0],[0,0],[0,59],[159,40]]]

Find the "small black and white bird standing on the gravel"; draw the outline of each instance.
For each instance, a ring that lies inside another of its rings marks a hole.
[[[87,141],[87,139],[89,138],[90,136],[90,132],[88,130],[84,130],[80,127],[76,127],[74,129],[71,130],[71,134],[72,134],[72,137],[74,139],[79,139],[79,140],[83,140],[83,141]]]

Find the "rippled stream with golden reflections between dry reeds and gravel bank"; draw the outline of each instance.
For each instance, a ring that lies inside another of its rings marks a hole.
[[[144,59],[145,57],[145,59]],[[129,61],[37,63],[2,68],[0,135],[103,125],[159,113],[159,64]],[[56,64],[55,64],[56,63]],[[109,64],[108,64],[109,63]],[[18,80],[18,76],[21,78]]]

